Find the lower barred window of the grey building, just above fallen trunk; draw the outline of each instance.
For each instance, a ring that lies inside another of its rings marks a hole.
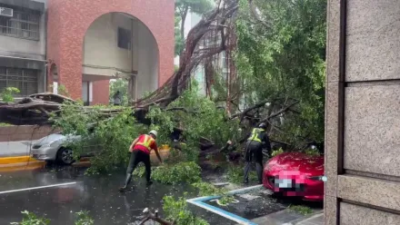
[[[16,87],[21,93],[17,97],[25,97],[37,93],[37,71],[19,68],[0,67],[0,93],[6,87]]]

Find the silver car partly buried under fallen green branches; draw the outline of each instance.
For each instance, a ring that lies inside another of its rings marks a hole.
[[[70,165],[74,163],[73,150],[68,147],[70,142],[78,142],[78,135],[54,133],[38,140],[31,146],[31,157],[39,161],[56,161]],[[92,152],[85,153],[81,157],[92,156]]]

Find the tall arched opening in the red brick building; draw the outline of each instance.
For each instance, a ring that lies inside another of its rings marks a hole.
[[[85,33],[82,55],[82,100],[108,103],[109,83],[129,78],[132,99],[155,91],[159,51],[154,35],[140,20],[125,13],[95,19]]]

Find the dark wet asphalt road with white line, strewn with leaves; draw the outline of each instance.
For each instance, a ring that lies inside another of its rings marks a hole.
[[[174,187],[155,182],[146,188],[145,181],[139,178],[135,178],[132,191],[119,193],[124,172],[103,176],[85,176],[84,172],[85,168],[64,167],[0,173],[0,224],[22,220],[22,210],[45,216],[51,224],[74,224],[75,212],[80,210],[89,210],[96,225],[135,224],[143,219],[145,208],[161,210],[165,195],[182,196],[185,191],[189,196],[196,195],[183,185]],[[65,182],[76,183],[5,192]],[[210,224],[235,224],[205,210],[193,211]]]

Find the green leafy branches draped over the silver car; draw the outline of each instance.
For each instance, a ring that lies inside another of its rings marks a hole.
[[[129,160],[130,144],[140,133],[147,132],[144,124],[135,121],[131,108],[123,108],[124,111],[112,119],[105,119],[102,111],[106,107],[96,106],[82,112],[81,105],[65,103],[62,112],[53,117],[55,127],[65,135],[80,137],[65,143],[74,150],[76,160],[81,154],[95,149],[92,166],[87,172],[112,171],[125,166]]]

